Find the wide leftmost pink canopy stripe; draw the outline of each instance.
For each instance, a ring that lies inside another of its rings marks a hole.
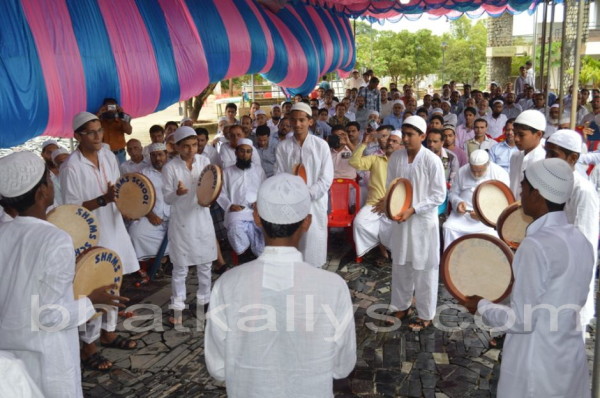
[[[86,87],[69,10],[64,0],[23,0],[21,5],[46,83],[49,109],[43,135],[73,137],[71,121],[85,110]]]

